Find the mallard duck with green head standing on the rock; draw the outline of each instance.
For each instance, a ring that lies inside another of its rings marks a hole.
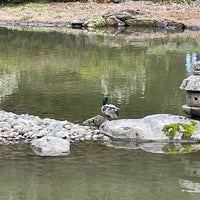
[[[103,106],[101,107],[101,112],[106,115],[109,120],[119,118],[119,108],[113,104],[108,104],[108,97],[104,96]]]

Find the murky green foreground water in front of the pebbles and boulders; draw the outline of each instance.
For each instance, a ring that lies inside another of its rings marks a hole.
[[[0,146],[1,199],[156,199],[199,196],[199,153],[151,154],[74,143],[68,157],[41,158],[26,145]],[[194,164],[195,163],[195,164]]]

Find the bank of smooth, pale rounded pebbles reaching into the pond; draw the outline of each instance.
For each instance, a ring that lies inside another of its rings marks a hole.
[[[71,142],[105,139],[98,129],[90,126],[0,110],[0,143],[19,140],[31,142],[44,136],[55,136]]]

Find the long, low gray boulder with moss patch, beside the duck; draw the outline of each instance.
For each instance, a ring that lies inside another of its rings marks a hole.
[[[183,116],[157,114],[107,121],[100,126],[100,133],[119,141],[199,141],[200,123]]]

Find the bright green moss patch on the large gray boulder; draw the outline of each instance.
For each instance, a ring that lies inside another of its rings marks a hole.
[[[165,125],[162,131],[167,137],[173,139],[177,133],[182,133],[182,139],[190,138],[192,133],[196,130],[196,122],[191,121],[191,124],[172,123]]]

